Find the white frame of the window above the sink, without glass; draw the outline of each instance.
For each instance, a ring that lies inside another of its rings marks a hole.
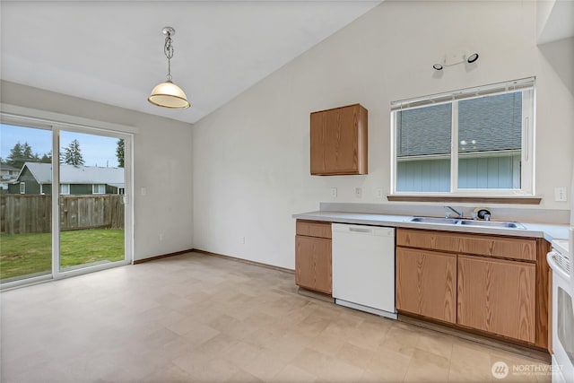
[[[511,92],[522,92],[522,135],[520,188],[459,188],[458,187],[458,103],[496,96]],[[397,147],[396,128],[398,112],[409,109],[421,109],[440,104],[451,104],[450,135],[450,190],[436,191],[397,191]],[[391,196],[535,196],[535,77],[496,83],[472,89],[450,91],[417,99],[401,100],[391,103]]]

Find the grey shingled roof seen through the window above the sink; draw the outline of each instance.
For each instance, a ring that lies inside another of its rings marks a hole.
[[[521,109],[520,92],[459,101],[458,151],[519,150],[522,146]],[[397,116],[397,155],[449,153],[450,122],[450,104],[400,112]]]

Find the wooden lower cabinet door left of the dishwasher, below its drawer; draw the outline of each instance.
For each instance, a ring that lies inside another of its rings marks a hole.
[[[331,239],[295,237],[295,283],[326,294],[332,293]]]

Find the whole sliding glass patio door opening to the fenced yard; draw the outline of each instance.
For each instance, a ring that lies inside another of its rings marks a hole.
[[[0,285],[129,263],[132,136],[2,117]]]

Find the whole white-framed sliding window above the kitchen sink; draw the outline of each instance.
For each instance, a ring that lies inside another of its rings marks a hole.
[[[393,194],[534,195],[534,83],[393,102]]]

